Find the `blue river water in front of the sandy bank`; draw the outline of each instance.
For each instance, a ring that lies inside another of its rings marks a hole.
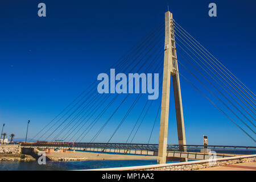
[[[33,162],[0,162],[0,171],[45,171],[45,170],[76,170],[76,169],[96,169],[112,167],[129,167],[156,164],[157,160],[84,160],[55,162],[46,161],[46,164],[39,165]]]

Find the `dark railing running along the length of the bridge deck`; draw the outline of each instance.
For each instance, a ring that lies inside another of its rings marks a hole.
[[[116,149],[116,150],[144,150],[144,151],[158,151],[158,144],[141,144],[141,143],[73,143],[73,142],[34,142],[34,143],[20,143],[21,146],[27,147],[56,147],[56,148],[104,148],[104,149]],[[167,145],[167,151],[183,151],[187,152],[200,152],[203,145]],[[215,151],[220,154],[241,154],[250,155],[256,154],[256,147],[251,146],[207,146],[211,151]]]

